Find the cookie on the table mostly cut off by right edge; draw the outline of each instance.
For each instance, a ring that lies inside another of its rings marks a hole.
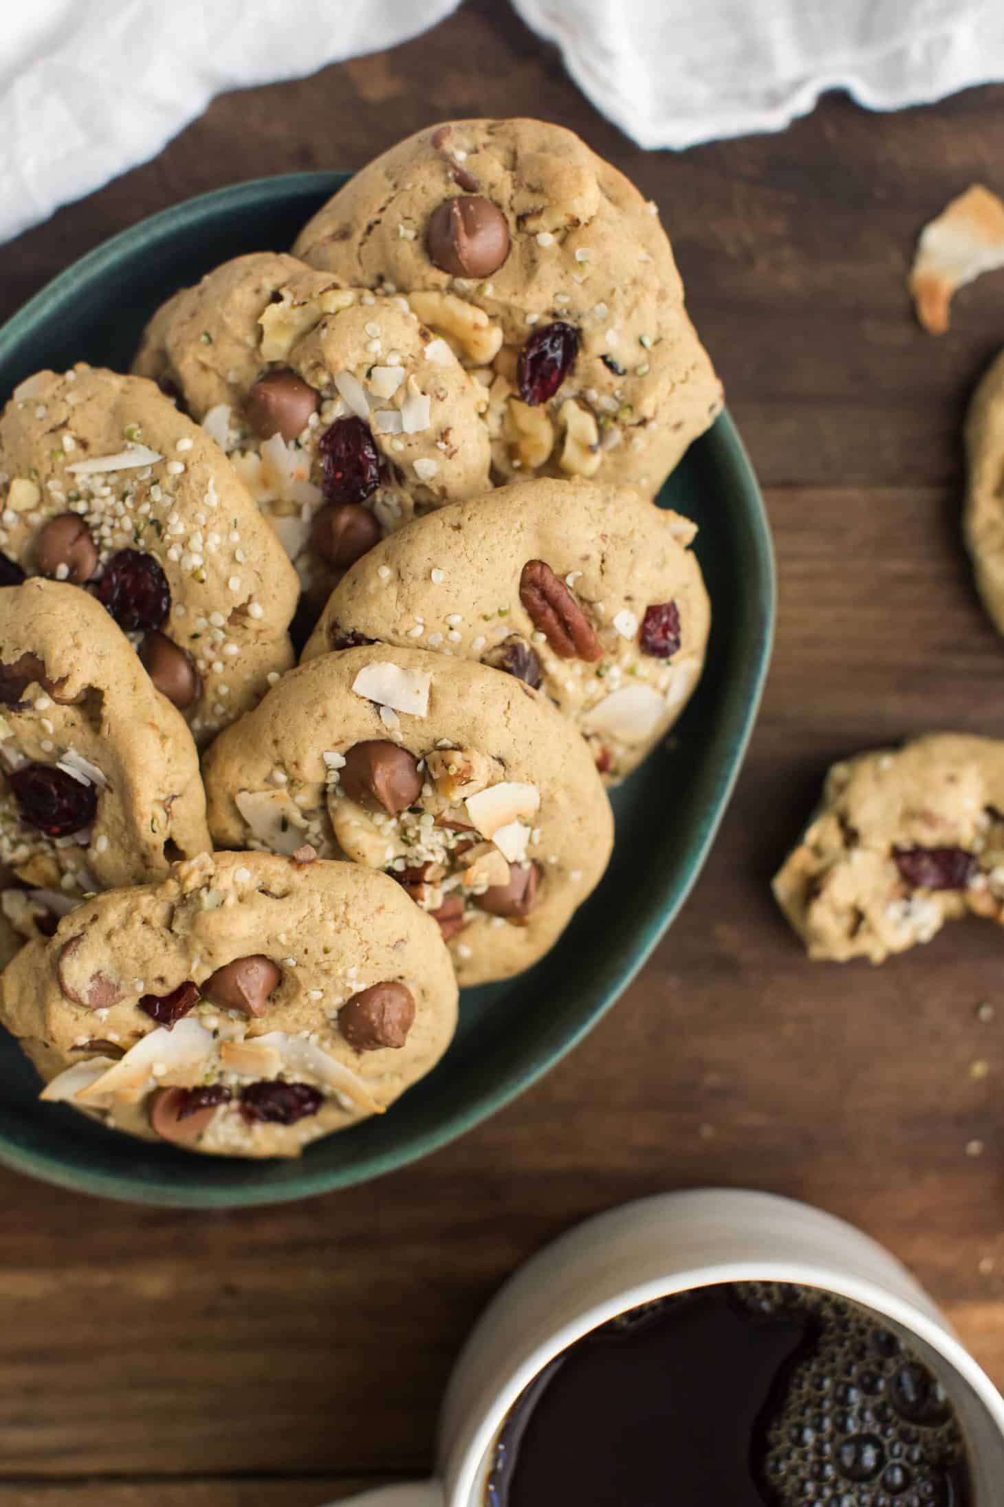
[[[965,426],[963,533],[975,583],[998,633],[1004,633],[1004,351],[980,381]]]

